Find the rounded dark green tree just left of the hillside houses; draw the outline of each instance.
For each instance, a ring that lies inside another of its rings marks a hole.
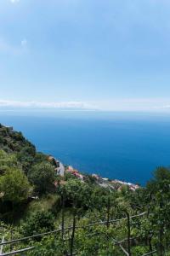
[[[54,166],[46,162],[32,166],[28,172],[28,178],[37,192],[40,194],[50,193],[54,189]]]

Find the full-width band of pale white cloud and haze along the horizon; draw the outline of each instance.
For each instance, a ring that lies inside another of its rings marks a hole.
[[[169,112],[170,98],[127,98],[112,99],[103,102],[20,102],[0,100],[0,109],[75,109],[75,110],[111,110]]]

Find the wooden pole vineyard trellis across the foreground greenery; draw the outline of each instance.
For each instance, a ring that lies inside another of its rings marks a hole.
[[[18,239],[14,239],[14,240],[10,240],[10,241],[5,241],[4,240],[4,236],[3,236],[3,240],[2,242],[0,243],[0,248],[1,248],[1,251],[0,251],[0,255],[1,256],[8,256],[8,255],[15,255],[15,254],[20,254],[20,253],[24,253],[24,252],[27,252],[27,251],[31,251],[33,250],[35,247],[34,246],[31,246],[31,247],[25,247],[25,248],[22,248],[22,249],[19,249],[19,250],[15,250],[15,251],[11,251],[11,252],[8,252],[8,253],[3,253],[3,247],[6,246],[6,245],[11,245],[11,244],[14,244],[14,243],[20,243],[22,241],[29,241],[29,240],[32,240],[34,238],[37,238],[37,237],[42,237],[42,236],[49,236],[49,235],[53,235],[53,234],[57,234],[57,233],[61,233],[62,235],[62,238],[63,238],[63,233],[65,231],[72,231],[71,232],[71,253],[70,253],[70,256],[72,255],[76,255],[76,253],[73,253],[73,244],[74,244],[74,237],[75,237],[75,234],[76,234],[76,230],[77,229],[86,229],[86,228],[89,228],[89,227],[93,227],[93,226],[96,226],[96,225],[103,225],[105,224],[107,227],[110,225],[110,224],[114,224],[114,223],[117,223],[117,222],[121,222],[121,221],[124,221],[124,220],[127,220],[127,224],[129,224],[129,220],[132,219],[132,218],[140,218],[140,217],[143,217],[144,214],[146,212],[140,212],[139,214],[136,214],[136,215],[133,215],[133,216],[129,216],[126,217],[126,218],[117,218],[117,219],[107,219],[105,221],[99,221],[99,222],[94,222],[92,224],[87,224],[87,225],[76,225],[76,220],[75,218],[74,221],[73,221],[73,225],[72,226],[69,226],[69,227],[66,227],[66,228],[63,228],[61,227],[60,229],[58,230],[53,230],[53,231],[48,231],[48,232],[44,232],[44,233],[40,233],[40,234],[36,234],[36,235],[32,235],[32,236],[26,236],[26,237],[22,237],[22,238],[18,238]],[[129,232],[129,230],[128,230]],[[98,233],[95,233],[95,234],[88,234],[87,236],[94,236],[94,235],[99,235],[99,232]],[[135,239],[136,237],[129,237],[130,240],[133,240]],[[125,255],[127,256],[131,256],[131,252],[130,252],[130,247],[129,247],[129,241],[128,241],[128,238],[127,239],[123,239],[122,241],[116,241],[116,239],[113,239],[113,244],[120,247],[122,249],[122,253],[124,253]],[[122,245],[123,243],[125,242],[128,242],[128,250],[126,250]],[[154,255],[156,253],[156,250],[155,251],[152,251],[150,253],[146,253],[144,254],[143,256],[147,256],[147,255]]]

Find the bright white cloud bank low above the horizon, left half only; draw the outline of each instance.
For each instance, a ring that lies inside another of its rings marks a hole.
[[[15,102],[0,100],[0,108],[68,108],[68,109],[94,109],[86,102]]]

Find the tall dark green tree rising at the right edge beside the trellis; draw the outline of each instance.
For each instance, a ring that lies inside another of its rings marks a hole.
[[[158,239],[158,252],[162,256],[168,242],[170,229],[170,170],[159,167],[154,178],[147,183],[149,197],[150,222]]]

